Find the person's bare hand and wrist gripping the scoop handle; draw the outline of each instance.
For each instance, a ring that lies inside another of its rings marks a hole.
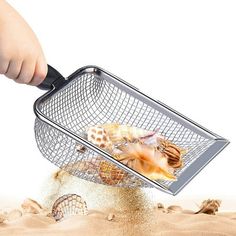
[[[37,37],[4,0],[0,0],[0,74],[30,85],[39,85],[47,74]]]

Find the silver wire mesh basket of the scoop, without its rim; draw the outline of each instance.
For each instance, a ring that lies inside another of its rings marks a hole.
[[[39,108],[64,129],[80,136],[84,136],[89,126],[113,122],[146,130],[158,130],[168,140],[188,150],[183,157],[183,168],[175,172],[177,177],[214,143],[214,140],[196,134],[111,82],[90,73],[71,81],[42,102]],[[111,167],[111,164],[107,165],[108,173],[104,174],[104,180],[101,176],[101,162],[104,162],[104,157],[92,150],[78,152],[78,142],[39,119],[36,119],[35,132],[43,155],[75,176],[111,185],[105,177],[113,171],[112,173],[116,173],[112,183],[115,186],[148,186],[136,176],[124,173],[119,167]],[[171,185],[169,181],[158,182],[166,187]]]

